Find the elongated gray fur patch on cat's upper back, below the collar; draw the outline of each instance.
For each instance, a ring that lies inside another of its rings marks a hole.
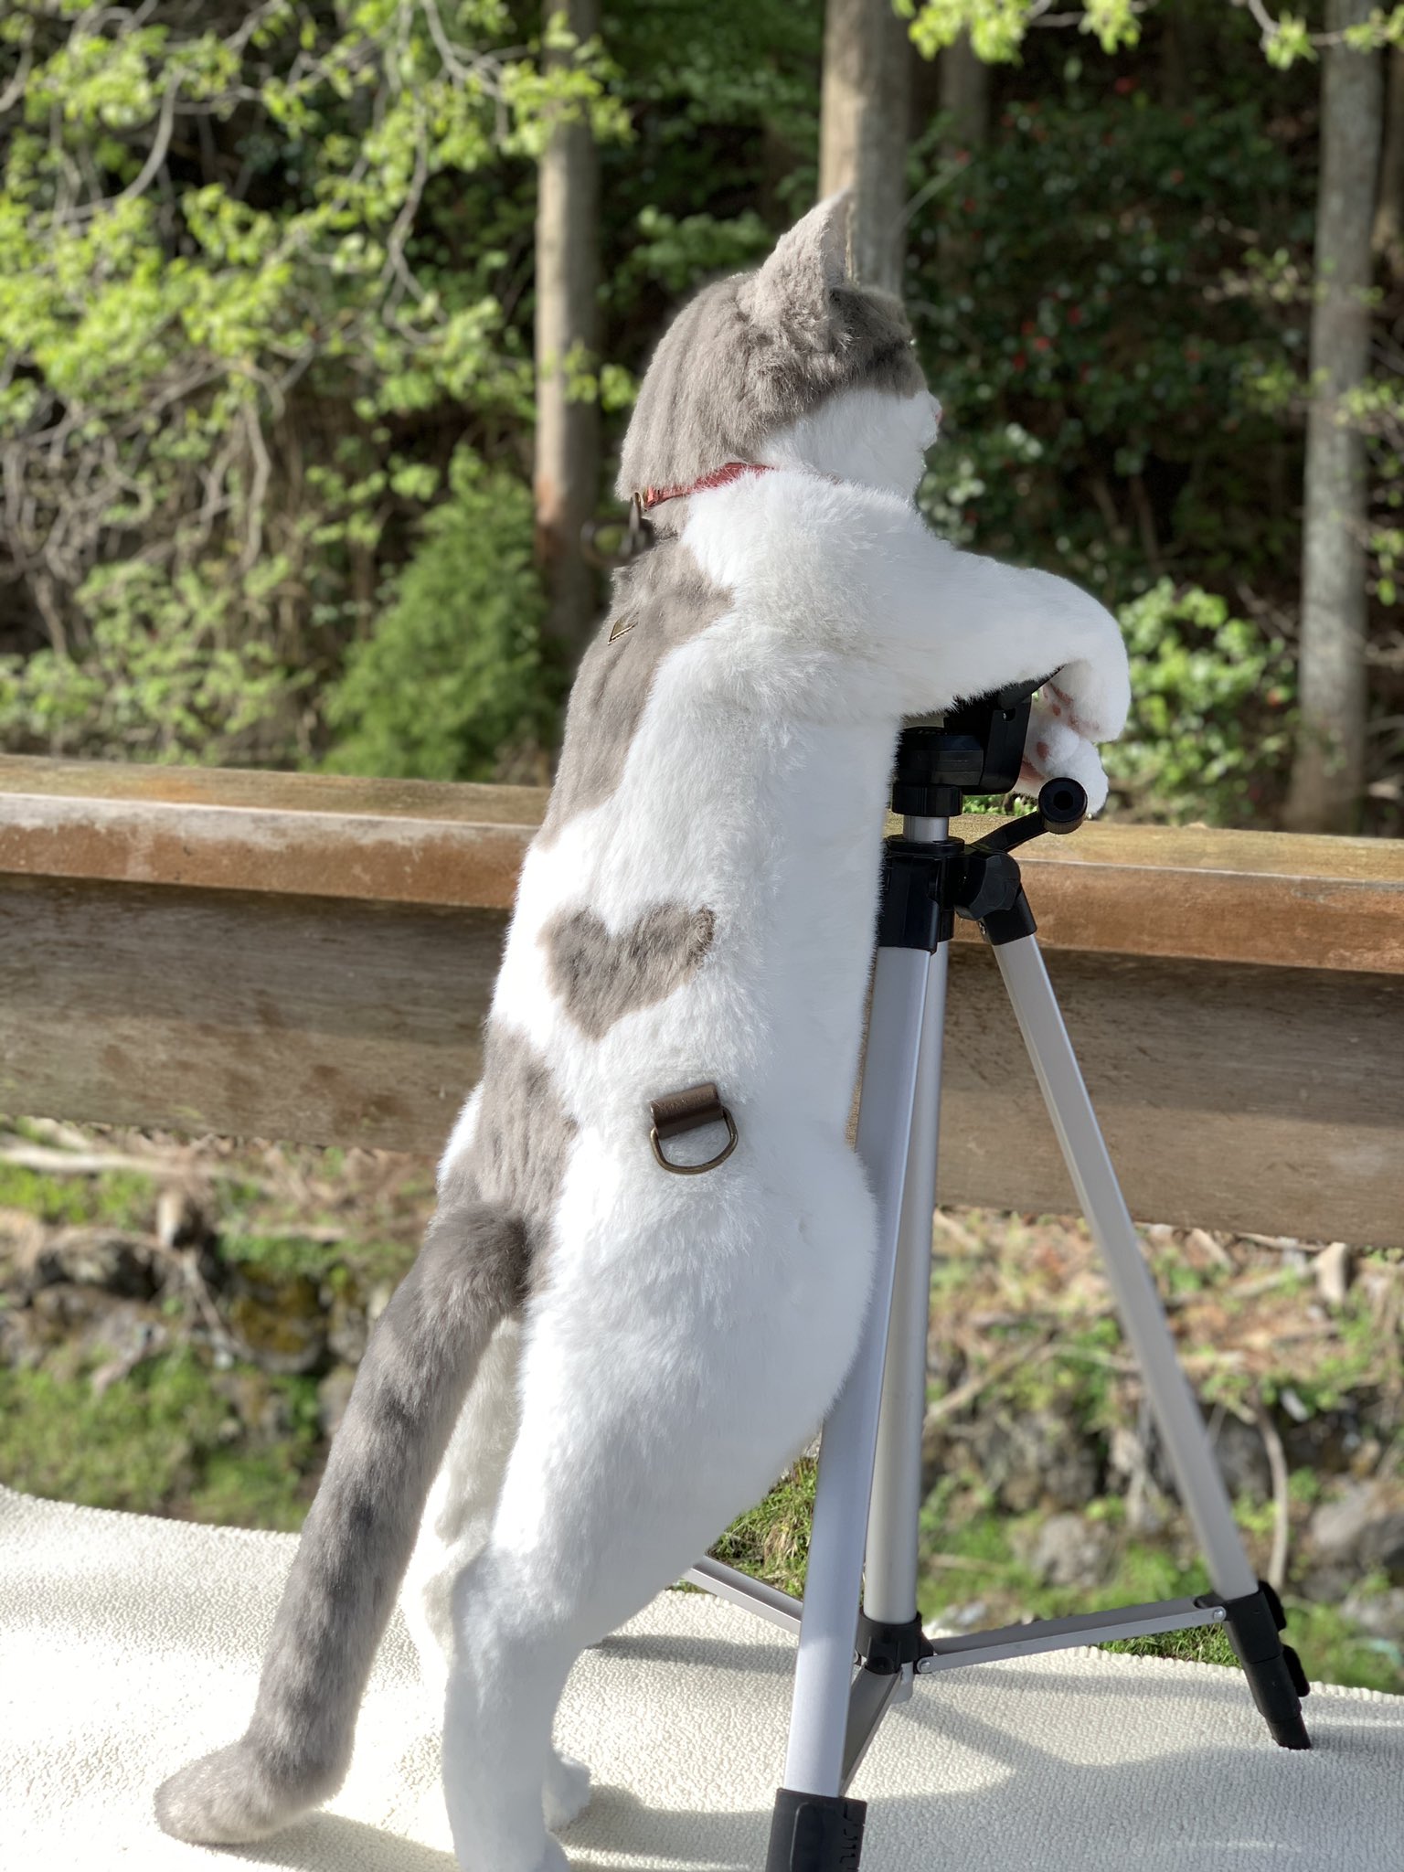
[[[659,665],[730,607],[730,592],[715,586],[678,539],[661,541],[614,575],[608,618],[580,659],[571,689],[556,784],[537,835],[543,844],[577,812],[610,797]],[[629,629],[612,636],[622,620],[631,620]]]

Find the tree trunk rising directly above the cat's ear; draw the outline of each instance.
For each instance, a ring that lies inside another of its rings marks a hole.
[[[865,286],[902,290],[906,227],[906,22],[891,0],[827,0],[820,197],[852,189],[850,255]]]

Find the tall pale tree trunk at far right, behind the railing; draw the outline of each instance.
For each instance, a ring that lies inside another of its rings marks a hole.
[[[1329,30],[1370,15],[1370,0],[1329,0]],[[1380,170],[1376,52],[1322,54],[1322,180],[1310,331],[1307,498],[1301,552],[1301,732],[1286,824],[1353,831],[1365,782],[1365,446],[1340,401],[1370,352],[1370,223]]]

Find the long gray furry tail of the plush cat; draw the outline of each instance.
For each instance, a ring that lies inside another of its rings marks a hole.
[[[526,1237],[446,1183],[425,1245],[376,1322],[303,1526],[247,1732],[155,1793],[165,1833],[256,1840],[337,1792],[434,1473],[477,1365],[522,1299]]]

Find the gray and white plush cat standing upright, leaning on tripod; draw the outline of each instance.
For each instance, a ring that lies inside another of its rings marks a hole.
[[[520,874],[483,1078],[371,1335],[247,1732],[155,1797],[253,1840],[331,1795],[404,1614],[464,1872],[565,1872],[578,1653],[760,1499],[857,1348],[876,1213],[846,1121],[902,717],[1056,670],[1024,779],[1123,724],[1116,622],[936,539],[900,305],[844,197],[704,288],[644,376],[614,577]]]

